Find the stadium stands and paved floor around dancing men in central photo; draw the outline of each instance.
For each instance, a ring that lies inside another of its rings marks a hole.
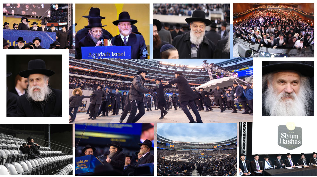
[[[232,59],[218,64],[212,63],[212,79],[216,82],[210,84],[209,87],[204,87],[204,90],[210,92],[215,89],[217,85],[214,84],[220,83],[220,80],[221,82],[223,82],[222,80],[227,80],[222,84],[223,87],[221,87],[221,89],[224,89],[223,91],[227,90],[228,87],[233,87],[233,82],[247,84],[248,82],[245,82],[243,79],[243,77],[249,78],[247,75],[240,77],[240,79],[238,77],[232,77],[237,76],[237,72],[234,72],[234,70],[251,70],[250,68],[253,68],[253,60],[244,62],[245,59],[248,58]],[[239,62],[239,64],[232,65],[237,62]],[[225,67],[226,65],[230,65],[227,66],[228,70]],[[198,92],[200,91],[198,89],[200,86],[211,82],[207,69],[202,66],[171,64],[153,59],[75,59],[74,56],[70,54],[69,98],[73,96],[74,89],[79,87],[82,89],[82,95],[89,96],[100,84],[103,86],[102,90],[108,88],[109,92],[114,93],[115,89],[120,89],[119,92],[121,92],[122,95],[124,91],[128,93],[133,77],[137,75],[137,71],[140,69],[148,71],[144,85],[146,88],[151,90],[154,89],[154,86],[156,85],[154,81],[155,79],[159,78],[162,82],[168,82],[175,78],[174,72],[176,71],[181,71],[189,82],[189,85],[192,88],[196,88]],[[253,79],[251,82],[253,82]],[[173,107],[171,95],[173,92],[178,95],[178,89],[175,87],[165,88],[164,91],[166,92],[165,100],[167,100],[170,106],[170,110],[168,110],[164,119],[159,119],[161,111],[157,108],[157,105],[154,104],[154,99],[151,98],[151,110],[150,108],[145,107],[146,113],[136,123],[189,122],[178,102],[176,102],[177,110]],[[146,96],[147,95],[148,94],[146,94]],[[206,112],[206,108],[204,107],[202,111],[199,111],[203,122],[250,122],[253,120],[253,116],[250,116],[249,113],[241,114],[243,113],[242,108],[239,109],[237,114],[231,113],[232,110],[229,110],[229,107],[226,107],[227,109],[223,113],[220,113],[220,107],[215,103],[213,95],[208,98],[211,100],[211,107],[213,110]],[[89,98],[84,98],[76,114],[76,123],[118,123],[120,121],[122,109],[119,110],[119,115],[110,115],[113,113],[109,111],[109,116],[101,116],[105,113],[100,110],[98,113],[99,116],[94,120],[90,120],[88,119],[88,107]],[[242,107],[242,105],[240,105],[240,107]],[[122,103],[120,103],[120,108],[122,108]],[[111,109],[110,104],[109,109]],[[192,112],[191,114],[195,117]],[[126,123],[126,120],[127,118],[123,120],[123,123]]]

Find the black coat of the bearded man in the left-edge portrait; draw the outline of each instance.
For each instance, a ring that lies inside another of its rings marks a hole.
[[[61,117],[61,90],[52,89],[53,95],[41,108],[40,102],[29,101],[26,94],[16,100],[18,117]]]

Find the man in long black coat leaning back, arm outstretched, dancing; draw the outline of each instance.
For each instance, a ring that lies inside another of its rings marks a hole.
[[[181,71],[175,72],[175,79],[169,82],[164,82],[162,84],[170,85],[175,83],[177,84],[176,88],[178,88],[179,90],[178,101],[180,102],[180,107],[183,109],[184,113],[186,114],[188,119],[191,121],[190,123],[196,123],[196,121],[193,119],[193,116],[189,112],[187,105],[193,110],[196,116],[197,123],[203,123],[194,102],[194,100],[198,98],[198,96],[192,91],[191,87],[188,84],[187,79],[184,77]]]

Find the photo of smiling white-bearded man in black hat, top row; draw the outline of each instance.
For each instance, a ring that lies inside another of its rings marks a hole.
[[[179,58],[230,58],[229,13],[229,4],[153,4],[153,58],[169,58],[166,44]]]

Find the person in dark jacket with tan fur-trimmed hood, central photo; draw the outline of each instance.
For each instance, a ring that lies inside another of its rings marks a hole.
[[[70,122],[69,123],[73,123],[75,122],[75,118],[76,118],[76,113],[78,110],[78,107],[81,105],[81,101],[84,98],[90,98],[94,96],[94,93],[92,93],[89,96],[84,96],[82,95],[82,91],[81,89],[74,89],[73,90],[73,96],[71,96],[68,100],[68,104],[69,104],[69,115],[70,115]],[[72,114],[72,110],[74,109],[74,114]]]

